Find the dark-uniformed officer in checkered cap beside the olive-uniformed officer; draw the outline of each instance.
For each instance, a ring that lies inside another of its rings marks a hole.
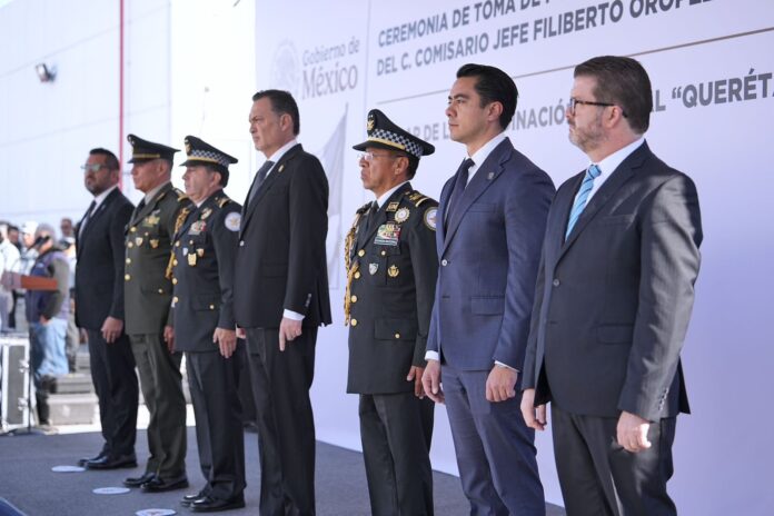
[[[182,180],[194,206],[172,246],[175,350],[186,353],[199,463],[207,485],[181,504],[194,512],[245,506],[245,441],[238,394],[234,260],[241,206],[224,194],[237,159],[186,137]],[[244,350],[240,350],[244,353]]]

